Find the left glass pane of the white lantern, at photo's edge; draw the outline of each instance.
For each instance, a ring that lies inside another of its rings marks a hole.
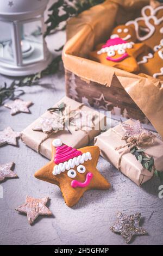
[[[0,58],[14,62],[12,23],[0,21]]]

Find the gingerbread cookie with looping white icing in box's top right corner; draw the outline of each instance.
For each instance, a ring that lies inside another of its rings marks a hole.
[[[157,51],[158,45],[163,43],[163,5],[156,8],[146,5],[142,8],[141,15],[142,17],[128,21],[126,25],[135,27],[137,40]]]

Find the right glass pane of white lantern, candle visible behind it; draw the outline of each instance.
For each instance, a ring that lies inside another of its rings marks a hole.
[[[39,62],[44,58],[41,26],[41,20],[21,23],[20,25],[23,64]]]

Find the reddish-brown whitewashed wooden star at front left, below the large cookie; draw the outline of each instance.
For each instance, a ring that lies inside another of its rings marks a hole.
[[[27,196],[26,203],[18,206],[15,210],[27,214],[28,222],[32,225],[39,215],[52,215],[52,212],[46,206],[48,200],[49,197],[40,199]]]

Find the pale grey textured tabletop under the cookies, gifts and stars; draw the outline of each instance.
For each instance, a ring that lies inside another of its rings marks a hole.
[[[48,38],[48,45],[58,48],[65,40],[64,32]],[[0,77],[0,84],[8,81]],[[23,100],[32,100],[31,114],[20,113],[12,117],[9,109],[0,107],[0,130],[10,125],[22,131],[45,110],[65,95],[64,71],[43,78],[42,86],[25,88]],[[141,225],[148,235],[135,236],[131,245],[163,244],[163,199],[158,197],[160,182],[153,178],[142,187],[118,172],[109,162],[100,157],[98,168],[111,182],[108,191],[88,191],[72,209],[64,203],[59,188],[34,178],[37,169],[48,160],[26,147],[20,140],[19,147],[5,145],[0,148],[0,163],[15,162],[18,178],[1,184],[3,199],[0,199],[0,244],[1,245],[125,245],[121,235],[112,233],[110,226],[116,220],[116,212],[133,214],[141,212]],[[31,227],[26,215],[14,209],[24,203],[26,195],[49,196],[52,217],[39,217]]]

